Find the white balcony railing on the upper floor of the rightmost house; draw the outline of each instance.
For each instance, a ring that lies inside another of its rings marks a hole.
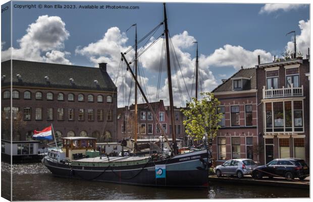
[[[300,97],[303,96],[303,85],[301,87],[277,88],[277,89],[266,89],[263,86],[263,98],[278,98],[278,97]]]

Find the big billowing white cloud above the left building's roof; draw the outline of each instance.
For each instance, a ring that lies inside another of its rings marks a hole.
[[[68,52],[61,52],[64,41],[70,36],[65,23],[58,16],[39,16],[36,22],[28,25],[26,34],[18,39],[19,48],[12,47],[12,58],[19,60],[71,64],[66,57]],[[8,60],[11,47],[2,51],[2,61]]]

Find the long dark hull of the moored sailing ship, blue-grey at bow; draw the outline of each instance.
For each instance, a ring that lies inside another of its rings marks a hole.
[[[163,161],[130,166],[113,166],[113,163],[107,167],[74,166],[49,161],[47,158],[44,158],[42,163],[59,177],[146,186],[207,187],[208,156],[205,149]],[[163,176],[156,174],[160,166],[165,168]]]

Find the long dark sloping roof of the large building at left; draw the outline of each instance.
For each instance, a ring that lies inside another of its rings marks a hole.
[[[11,85],[11,61],[2,62],[1,66],[1,75],[6,75],[4,79],[2,77],[2,85]],[[14,86],[117,91],[107,71],[100,68],[12,60],[12,73]],[[73,82],[70,81],[71,78]]]

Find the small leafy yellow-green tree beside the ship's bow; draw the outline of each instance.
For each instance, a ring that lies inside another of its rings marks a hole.
[[[204,95],[201,100],[193,97],[192,101],[187,103],[187,108],[181,110],[187,117],[187,120],[183,121],[185,132],[195,140],[202,139],[205,132],[214,138],[221,127],[218,123],[223,117],[222,113],[217,113],[220,102],[213,93],[205,92],[200,95]]]

